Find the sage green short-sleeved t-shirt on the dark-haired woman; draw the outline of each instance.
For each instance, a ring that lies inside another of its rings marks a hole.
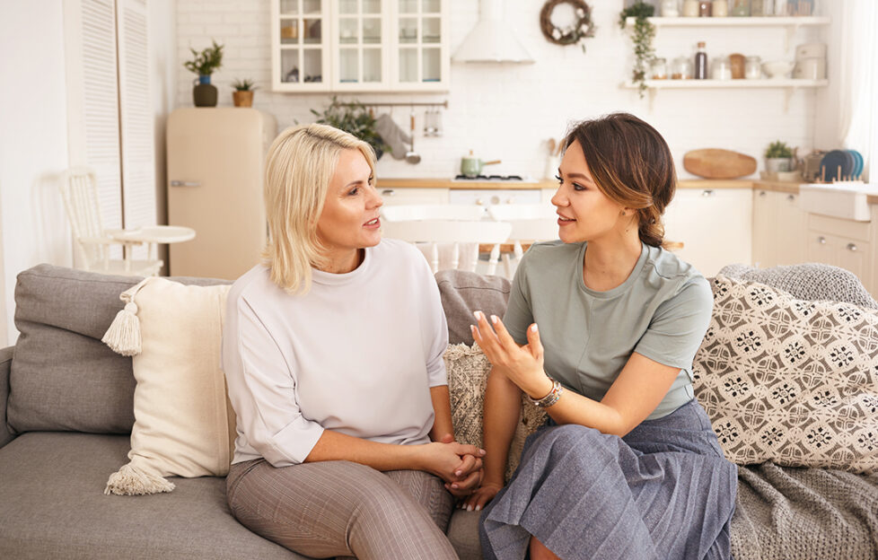
[[[633,352],[680,368],[648,420],[694,398],[692,359],[707,332],[707,280],[672,253],[643,244],[628,279],[606,292],[585,286],[586,243],[534,243],[515,273],[503,319],[518,344],[540,328],[545,367],[566,389],[601,400]]]

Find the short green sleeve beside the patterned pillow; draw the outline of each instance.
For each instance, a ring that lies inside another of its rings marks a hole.
[[[634,351],[671,367],[689,369],[710,324],[713,294],[707,280],[685,284],[680,292],[662,302]]]

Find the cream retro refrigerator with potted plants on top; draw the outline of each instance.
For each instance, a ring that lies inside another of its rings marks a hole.
[[[263,165],[275,118],[239,107],[177,109],[168,118],[168,223],[196,237],[169,247],[173,276],[234,280],[267,236]]]

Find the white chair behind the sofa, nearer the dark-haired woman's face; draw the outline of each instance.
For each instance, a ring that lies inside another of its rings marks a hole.
[[[513,252],[502,254],[507,277],[512,277],[524,255],[522,243],[558,239],[558,214],[554,206],[545,204],[507,204],[487,208],[487,214],[497,222],[512,224],[509,241]]]

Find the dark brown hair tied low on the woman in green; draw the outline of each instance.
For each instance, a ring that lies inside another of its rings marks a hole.
[[[640,241],[664,242],[662,214],[677,188],[673,157],[662,135],[628,113],[612,113],[577,123],[564,139],[565,150],[579,142],[592,179],[610,200],[637,210]]]

